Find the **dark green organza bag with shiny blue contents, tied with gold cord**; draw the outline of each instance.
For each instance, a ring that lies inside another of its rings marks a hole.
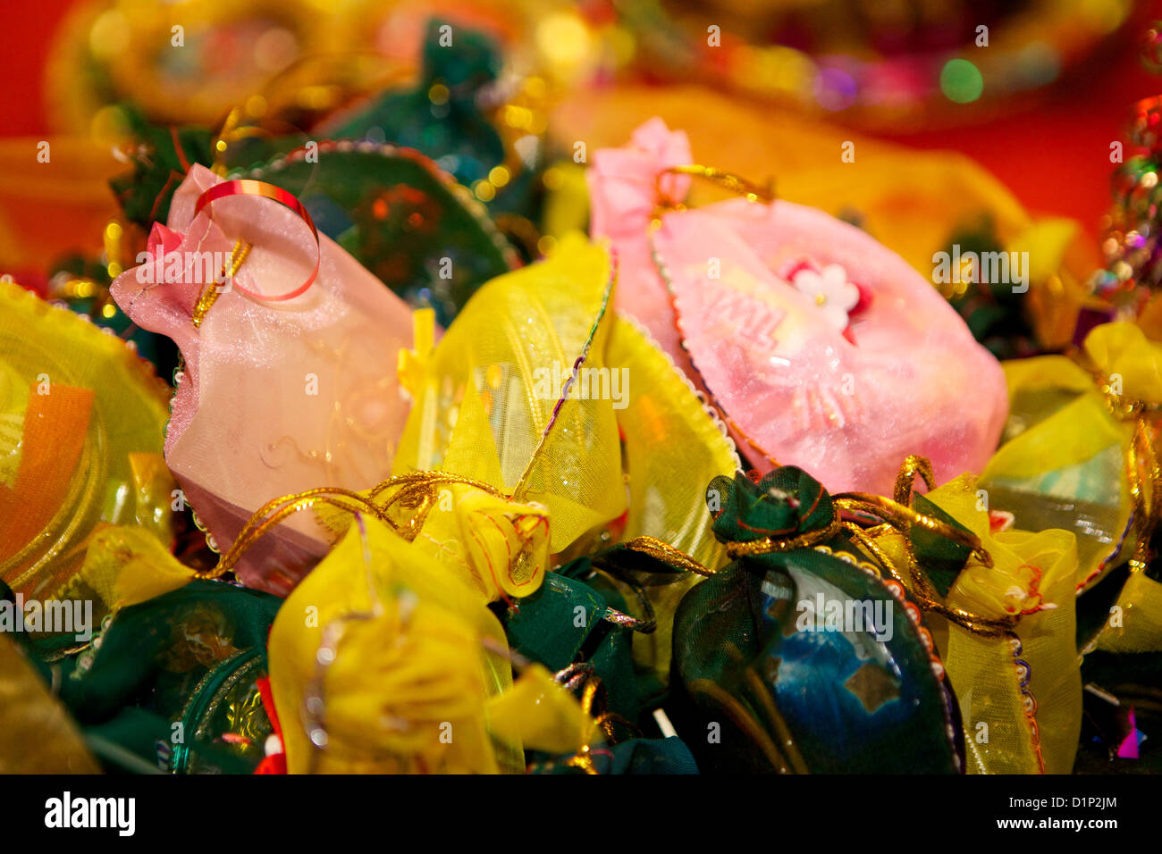
[[[819,483],[794,467],[758,483],[739,473],[716,478],[708,503],[733,558],[718,572],[650,538],[600,557],[639,584],[706,575],[674,616],[665,702],[698,768],[961,772],[959,712],[920,609]]]

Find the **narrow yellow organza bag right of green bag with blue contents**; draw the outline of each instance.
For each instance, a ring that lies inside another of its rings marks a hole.
[[[992,558],[991,567],[970,560],[945,604],[984,619],[1019,615],[1013,630],[999,634],[925,615],[960,702],[968,770],[1068,774],[1082,713],[1076,538],[1053,529],[991,533],[978,489],[975,478],[961,475],[925,496],[975,533]],[[898,533],[877,543],[905,565]]]

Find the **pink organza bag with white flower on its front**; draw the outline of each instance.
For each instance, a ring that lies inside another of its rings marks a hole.
[[[933,286],[813,208],[755,192],[684,209],[691,178],[674,167],[689,164],[686,135],[660,119],[596,152],[591,230],[619,253],[618,309],[703,385],[739,450],[832,491],[890,495],[909,454],[940,481],[981,471],[1007,412],[1004,375]]]

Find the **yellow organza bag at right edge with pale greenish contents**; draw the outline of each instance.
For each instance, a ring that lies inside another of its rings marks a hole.
[[[1162,651],[1162,583],[1147,573],[1157,519],[1155,440],[1162,407],[1162,345],[1132,323],[1106,323],[1074,361],[1005,363],[1005,443],[981,474],[994,509],[1018,528],[1077,534],[1078,595],[1109,570],[1128,576],[1082,653]]]

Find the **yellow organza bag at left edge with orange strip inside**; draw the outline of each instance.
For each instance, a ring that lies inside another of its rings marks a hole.
[[[124,342],[0,282],[0,502],[19,508],[0,512],[0,577],[13,589],[59,595],[106,525],[168,545],[167,402]]]

